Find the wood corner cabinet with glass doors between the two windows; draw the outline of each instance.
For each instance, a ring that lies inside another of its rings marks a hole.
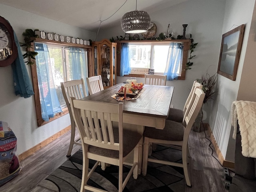
[[[116,84],[116,43],[103,39],[92,42],[92,76],[101,75],[103,87]]]

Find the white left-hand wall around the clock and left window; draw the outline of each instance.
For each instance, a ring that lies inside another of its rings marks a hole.
[[[29,12],[0,4],[0,15],[10,22],[20,42],[24,42],[22,32],[27,28],[56,32],[64,36],[94,39],[96,34]],[[26,66],[31,76],[30,66]],[[0,120],[7,122],[18,139],[18,154],[32,148],[46,138],[70,125],[69,115],[65,115],[44,126],[38,127],[34,96],[21,98],[14,94],[11,66],[0,67]]]

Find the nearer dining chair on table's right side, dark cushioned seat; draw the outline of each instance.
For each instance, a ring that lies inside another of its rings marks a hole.
[[[148,162],[166,164],[170,166],[178,166],[184,169],[184,176],[187,186],[191,187],[189,175],[188,175],[188,136],[194,120],[198,115],[200,108],[204,101],[205,93],[202,89],[196,88],[192,95],[192,100],[189,102],[189,112],[186,113],[184,127],[179,122],[166,120],[163,130],[153,127],[145,127],[143,137],[143,162],[142,162],[142,175],[146,175]],[[191,106],[191,107],[190,107]],[[167,160],[158,160],[156,158],[148,158],[149,143],[157,144],[170,144],[175,146],[181,146],[182,148],[182,163],[170,162]]]

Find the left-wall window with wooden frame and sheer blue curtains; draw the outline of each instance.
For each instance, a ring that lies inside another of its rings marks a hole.
[[[41,126],[68,113],[60,82],[85,79],[88,76],[91,47],[68,43],[51,44],[51,41],[48,43],[40,40],[33,47],[38,52],[36,65],[31,66],[31,69],[36,116],[38,126]]]

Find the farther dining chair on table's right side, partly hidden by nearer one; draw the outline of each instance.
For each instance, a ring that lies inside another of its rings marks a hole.
[[[180,123],[184,122],[184,114],[186,112],[186,109],[188,108],[188,104],[189,104],[189,102],[190,102],[190,100],[192,98],[192,95],[194,94],[196,88],[202,89],[202,87],[203,87],[202,84],[200,84],[197,81],[194,81],[193,86],[192,86],[192,88],[190,90],[190,93],[188,95],[188,98],[187,98],[187,100],[185,102],[183,110],[176,109],[176,108],[170,108],[167,119],[168,120],[172,120],[172,121],[176,121],[176,122],[180,122]]]

